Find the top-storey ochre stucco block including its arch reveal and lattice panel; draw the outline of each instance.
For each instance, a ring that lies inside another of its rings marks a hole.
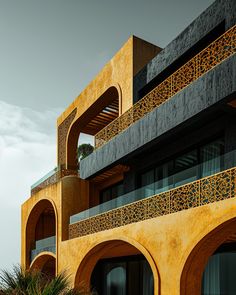
[[[104,108],[104,103],[107,106],[111,103],[110,100],[113,96],[114,99],[117,98],[119,101],[119,115],[132,107],[133,76],[160,50],[159,47],[151,43],[131,36],[61,114],[57,120],[57,158],[59,166],[76,166],[75,157],[79,134],[83,132],[84,128],[86,130],[86,125],[91,118],[97,115],[96,112],[99,113]],[[113,94],[107,94],[107,91],[112,88],[115,88],[116,91]],[[108,101],[110,102],[108,103]],[[73,118],[71,117],[72,115]],[[70,122],[68,121],[69,118],[72,118]]]

